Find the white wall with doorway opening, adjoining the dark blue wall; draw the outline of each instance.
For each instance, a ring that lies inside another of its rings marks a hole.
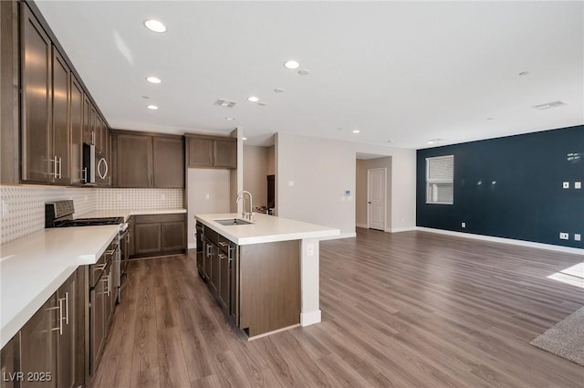
[[[414,228],[415,151],[285,133],[276,136],[277,215],[336,227],[341,235],[354,236],[358,152],[391,156],[392,212],[388,224],[392,231]],[[345,196],[345,190],[350,190],[351,196]]]

